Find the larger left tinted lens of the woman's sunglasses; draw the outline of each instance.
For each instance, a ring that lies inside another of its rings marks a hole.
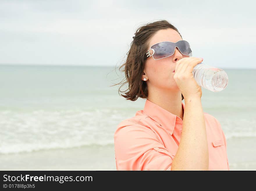
[[[175,43],[173,42],[160,42],[153,45],[151,48],[154,49],[155,53],[153,55],[154,59],[160,59],[170,56],[174,53]]]

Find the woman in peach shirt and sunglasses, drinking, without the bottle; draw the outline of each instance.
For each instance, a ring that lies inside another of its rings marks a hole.
[[[115,131],[117,170],[229,170],[225,135],[203,112],[192,74],[203,59],[190,57],[189,43],[166,20],[141,26],[133,38],[122,96],[146,101]]]

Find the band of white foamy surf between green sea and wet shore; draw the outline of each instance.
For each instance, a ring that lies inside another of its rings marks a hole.
[[[122,108],[0,111],[0,153],[113,144],[117,125],[131,116]],[[216,118],[226,139],[256,137],[255,119]]]

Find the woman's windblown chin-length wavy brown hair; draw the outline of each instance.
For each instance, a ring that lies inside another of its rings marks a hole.
[[[126,53],[127,59],[125,63],[122,64],[119,68],[120,71],[122,67],[125,67],[122,70],[122,72],[125,72],[125,78],[120,83],[115,84],[122,84],[120,86],[120,88],[122,88],[122,86],[128,83],[129,87],[125,91],[121,91],[119,88],[119,95],[120,92],[125,92],[125,94],[121,94],[121,96],[131,101],[136,101],[139,97],[147,99],[147,83],[146,81],[141,80],[141,76],[143,75],[145,60],[147,58],[146,52],[149,47],[149,40],[155,33],[157,33],[157,31],[168,28],[172,28],[179,33],[178,29],[170,24],[167,20],[147,23],[146,25],[143,25],[136,30],[136,33],[134,33],[135,36],[133,37],[133,41],[131,42],[131,47]],[[182,100],[183,99],[184,97],[182,95]]]

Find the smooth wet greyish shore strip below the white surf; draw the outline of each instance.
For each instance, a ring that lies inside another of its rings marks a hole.
[[[230,170],[256,170],[255,138],[234,138],[227,145]],[[1,170],[116,170],[113,144],[7,154],[0,160]]]

